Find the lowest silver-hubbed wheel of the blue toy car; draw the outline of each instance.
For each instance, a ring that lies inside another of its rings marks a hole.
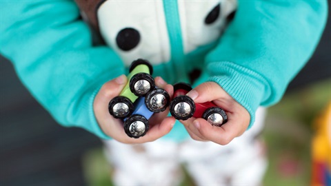
[[[148,120],[141,115],[134,114],[124,122],[124,131],[131,138],[139,138],[148,132]]]

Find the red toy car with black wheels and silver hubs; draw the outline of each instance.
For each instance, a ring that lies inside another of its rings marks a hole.
[[[192,87],[187,83],[177,83],[174,85],[174,99],[170,102],[170,114],[178,120],[188,118],[204,118],[210,124],[221,126],[228,121],[228,116],[224,110],[212,102],[194,103],[186,96]]]

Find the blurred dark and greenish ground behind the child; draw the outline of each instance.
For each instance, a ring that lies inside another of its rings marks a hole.
[[[330,41],[329,19],[317,51],[268,110],[261,135],[270,162],[263,185],[311,183],[312,138],[331,101]],[[58,125],[3,56],[0,76],[0,185],[112,185],[99,138]],[[181,185],[194,183],[186,176]]]

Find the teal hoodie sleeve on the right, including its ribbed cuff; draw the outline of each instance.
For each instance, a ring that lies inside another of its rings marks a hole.
[[[209,81],[250,112],[272,105],[310,59],[328,14],[325,0],[245,1],[206,58]]]

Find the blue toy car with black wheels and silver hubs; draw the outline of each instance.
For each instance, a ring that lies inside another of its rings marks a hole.
[[[124,119],[124,131],[131,138],[139,138],[148,132],[148,119],[154,112],[162,112],[168,107],[170,96],[161,88],[156,88],[148,96],[139,97],[134,103],[132,115]]]

